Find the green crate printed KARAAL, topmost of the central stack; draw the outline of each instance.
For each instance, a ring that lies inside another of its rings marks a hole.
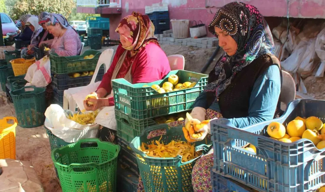
[[[180,83],[197,82],[193,88],[160,94],[150,86],[162,86],[176,74]],[[112,80],[115,109],[135,119],[147,119],[192,109],[195,99],[208,83],[208,75],[186,70],[170,71],[163,80],[131,84],[125,79]],[[148,85],[149,87],[143,87]]]

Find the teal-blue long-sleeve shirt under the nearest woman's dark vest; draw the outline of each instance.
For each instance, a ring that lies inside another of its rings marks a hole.
[[[237,128],[243,128],[258,122],[273,119],[280,91],[281,76],[279,67],[277,65],[271,65],[254,83],[249,101],[248,116],[229,119],[229,121]],[[193,108],[206,108],[206,105],[206,92],[202,92],[195,100]],[[208,108],[220,112],[218,102],[212,103]]]

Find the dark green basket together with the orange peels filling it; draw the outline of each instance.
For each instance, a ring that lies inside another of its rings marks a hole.
[[[159,134],[152,134],[153,131]],[[144,130],[132,140],[130,147],[136,153],[146,191],[164,188],[166,191],[191,192],[193,166],[208,152],[211,143],[187,143],[182,127],[160,124]]]

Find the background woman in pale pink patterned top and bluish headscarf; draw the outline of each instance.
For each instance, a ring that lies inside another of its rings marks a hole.
[[[80,55],[82,45],[79,35],[63,15],[50,13],[45,24],[54,36],[50,53],[56,53],[60,57]]]

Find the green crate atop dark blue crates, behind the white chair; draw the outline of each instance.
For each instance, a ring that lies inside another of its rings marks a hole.
[[[72,73],[79,71],[93,70],[97,66],[101,52],[87,50],[80,56],[59,57],[57,54],[50,54],[51,70],[57,74]],[[92,59],[84,59],[85,56],[94,55]]]

